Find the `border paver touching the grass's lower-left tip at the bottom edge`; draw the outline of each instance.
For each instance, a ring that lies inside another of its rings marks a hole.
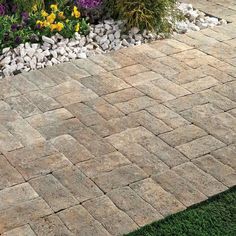
[[[89,213],[112,235],[123,235],[135,230],[137,224],[107,197],[102,196],[83,204]]]

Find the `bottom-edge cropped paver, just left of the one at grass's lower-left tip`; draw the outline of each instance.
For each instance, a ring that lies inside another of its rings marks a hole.
[[[57,214],[73,235],[110,236],[108,231],[82,206],[75,206]]]

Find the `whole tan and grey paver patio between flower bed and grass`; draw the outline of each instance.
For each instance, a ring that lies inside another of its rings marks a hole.
[[[0,234],[122,235],[236,184],[231,24],[0,81]]]

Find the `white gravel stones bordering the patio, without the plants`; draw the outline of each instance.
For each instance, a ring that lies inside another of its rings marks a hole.
[[[191,4],[181,3],[178,8],[186,19],[176,23],[174,34],[227,24],[225,20],[195,10]],[[91,25],[91,31],[87,36],[75,33],[74,38],[67,39],[56,34],[51,38],[43,36],[42,44],[25,43],[14,49],[4,48],[0,54],[0,79],[22,71],[36,70],[163,38],[163,35],[152,32],[140,32],[136,27],[125,34],[122,32],[124,25],[122,21],[105,20],[97,25]]]

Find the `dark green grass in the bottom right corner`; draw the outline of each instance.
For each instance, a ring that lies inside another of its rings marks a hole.
[[[236,187],[128,236],[236,236]]]

